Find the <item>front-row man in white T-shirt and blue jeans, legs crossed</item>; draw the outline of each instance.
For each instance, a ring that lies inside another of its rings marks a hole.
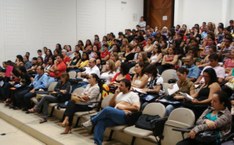
[[[139,96],[130,91],[131,82],[127,79],[120,81],[119,91],[110,101],[111,107],[104,108],[91,120],[83,123],[84,127],[95,125],[94,142],[97,145],[102,145],[103,134],[106,127],[126,124],[126,115],[138,111],[140,109]]]

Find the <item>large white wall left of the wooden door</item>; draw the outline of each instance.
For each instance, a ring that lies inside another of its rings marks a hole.
[[[135,28],[142,15],[143,0],[0,0],[0,63]]]

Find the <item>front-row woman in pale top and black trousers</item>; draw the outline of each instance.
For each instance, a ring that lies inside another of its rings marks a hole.
[[[81,94],[72,94],[71,101],[68,102],[67,108],[64,112],[65,119],[61,123],[61,126],[66,127],[62,134],[68,134],[71,131],[72,120],[75,112],[77,111],[89,111],[93,108],[92,101],[96,101],[100,94],[100,87],[98,85],[99,77],[96,74],[89,76],[89,84]]]

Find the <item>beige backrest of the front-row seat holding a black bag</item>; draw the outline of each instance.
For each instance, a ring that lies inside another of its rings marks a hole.
[[[161,103],[149,103],[145,106],[142,113],[148,115],[159,115],[160,117],[164,117],[166,109],[165,106]]]

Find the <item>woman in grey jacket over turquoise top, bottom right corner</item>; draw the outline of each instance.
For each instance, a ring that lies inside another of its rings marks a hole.
[[[224,136],[231,132],[232,115],[228,110],[230,101],[224,92],[213,93],[211,107],[206,109],[196,122],[195,127],[189,132],[188,138],[176,145],[206,145],[198,142],[195,137],[202,131],[217,131],[217,140],[210,145],[220,145]]]

